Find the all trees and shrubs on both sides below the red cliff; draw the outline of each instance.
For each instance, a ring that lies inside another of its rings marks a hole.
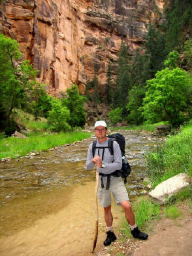
[[[87,83],[86,97],[78,93],[76,85],[59,98],[48,96],[46,85],[35,79],[38,71],[22,60],[18,43],[1,35],[0,130],[10,135],[20,129],[14,119],[16,108],[33,114],[35,120],[46,117],[50,131],[84,127],[84,98],[93,102],[94,108],[101,102],[109,105],[113,125],[169,121],[176,126],[191,119],[191,10],[189,0],[167,1],[165,18],[155,12],[155,22],[148,24],[139,51],[132,54],[122,40],[117,65],[108,60],[105,89],[99,87],[95,75]]]

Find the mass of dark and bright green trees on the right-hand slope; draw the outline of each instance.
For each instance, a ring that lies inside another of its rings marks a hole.
[[[133,55],[122,40],[116,69],[109,60],[106,81],[105,101],[113,125],[122,120],[134,125],[166,120],[177,126],[191,119],[191,10],[189,0],[167,1],[165,18],[156,13],[144,44]]]

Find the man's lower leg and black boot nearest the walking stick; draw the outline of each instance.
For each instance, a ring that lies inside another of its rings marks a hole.
[[[110,245],[112,242],[114,242],[117,238],[114,234],[113,229],[113,215],[111,212],[111,205],[108,205],[107,207],[104,207],[104,221],[106,223],[106,240],[104,240],[104,245]]]

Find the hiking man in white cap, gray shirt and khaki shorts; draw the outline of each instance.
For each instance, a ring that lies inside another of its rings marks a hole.
[[[108,150],[108,138],[106,137],[107,126],[105,121],[95,122],[95,135],[97,137],[95,156],[93,156],[92,146],[89,145],[88,158],[86,161],[86,168],[93,169],[95,165],[99,166],[99,189],[98,198],[101,207],[104,208],[104,221],[106,223],[106,240],[104,245],[110,245],[116,240],[114,229],[112,226],[113,216],[111,211],[111,192],[117,205],[121,205],[125,211],[125,218],[131,228],[131,234],[135,238],[146,240],[148,234],[140,232],[135,223],[135,215],[129,202],[129,197],[125,185],[121,177],[114,177],[110,175],[122,167],[122,156],[118,142],[114,141],[114,155],[110,154]],[[110,177],[110,178],[108,178]]]

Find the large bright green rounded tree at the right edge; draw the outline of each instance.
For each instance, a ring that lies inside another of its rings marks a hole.
[[[157,72],[154,79],[147,81],[147,89],[142,107],[146,120],[167,120],[176,126],[190,117],[191,86],[184,70],[165,68]]]

